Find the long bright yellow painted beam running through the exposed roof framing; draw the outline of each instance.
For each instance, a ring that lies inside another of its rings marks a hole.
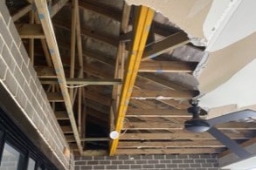
[[[128,102],[131,97],[133,86],[135,85],[135,78],[139,70],[142,54],[149,35],[150,25],[154,17],[154,10],[140,6],[136,16],[138,16],[138,18],[135,21],[135,35],[133,38],[132,49],[129,52],[128,68],[124,78],[124,85],[122,86],[121,100],[118,106],[118,114],[115,123],[115,131],[118,133],[121,133],[121,128],[123,126],[122,122],[128,109]],[[119,139],[113,139],[109,153],[111,156],[114,155],[118,142]]]

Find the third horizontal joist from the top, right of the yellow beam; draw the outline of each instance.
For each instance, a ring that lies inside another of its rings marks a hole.
[[[191,118],[191,114],[187,110],[179,109],[136,109],[128,108],[126,117],[163,117],[163,118]]]

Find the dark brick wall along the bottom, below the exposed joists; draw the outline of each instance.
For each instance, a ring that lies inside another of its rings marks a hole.
[[[218,170],[219,168],[216,154],[180,154],[75,158],[75,170],[84,169]]]

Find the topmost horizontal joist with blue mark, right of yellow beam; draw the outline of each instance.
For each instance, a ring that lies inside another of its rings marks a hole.
[[[144,61],[140,65],[139,72],[183,72],[191,73],[195,70],[197,62],[183,61]]]

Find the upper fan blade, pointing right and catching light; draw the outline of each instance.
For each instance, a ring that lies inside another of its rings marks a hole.
[[[232,112],[229,114],[225,114],[223,116],[219,116],[217,118],[213,119],[207,119],[206,121],[211,125],[215,126],[217,124],[229,122],[229,121],[236,121],[239,119],[246,119],[250,117],[256,117],[256,112],[252,110],[244,110],[244,111],[238,111],[238,112]]]

